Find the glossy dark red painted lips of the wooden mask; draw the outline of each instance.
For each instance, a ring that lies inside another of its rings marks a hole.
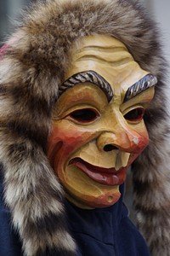
[[[122,167],[116,171],[115,168],[93,166],[81,158],[70,160],[69,165],[77,166],[95,182],[105,185],[121,185],[126,179],[127,167]]]

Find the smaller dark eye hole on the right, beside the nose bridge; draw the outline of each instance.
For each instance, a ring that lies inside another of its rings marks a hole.
[[[124,118],[127,121],[131,121],[131,122],[139,122],[143,119],[144,117],[144,108],[133,108],[132,110],[130,110],[129,112],[127,112],[124,115]]]

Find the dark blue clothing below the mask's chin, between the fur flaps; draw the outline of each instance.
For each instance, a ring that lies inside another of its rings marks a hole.
[[[127,217],[122,197],[112,207],[94,210],[82,210],[66,202],[70,230],[80,249],[78,256],[150,255],[144,238]]]

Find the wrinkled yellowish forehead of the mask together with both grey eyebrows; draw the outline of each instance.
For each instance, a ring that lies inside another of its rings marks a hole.
[[[134,61],[126,46],[116,38],[94,35],[72,47],[71,65],[59,86],[59,97],[77,84],[95,84],[108,102],[127,101],[156,84],[156,77]]]

